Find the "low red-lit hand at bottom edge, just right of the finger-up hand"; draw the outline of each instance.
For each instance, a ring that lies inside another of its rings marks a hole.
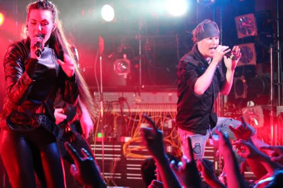
[[[202,172],[202,176],[204,181],[212,188],[226,188],[215,175],[213,162],[208,159],[198,159],[197,167],[200,172]]]

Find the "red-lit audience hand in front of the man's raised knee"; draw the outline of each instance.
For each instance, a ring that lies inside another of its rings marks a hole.
[[[242,124],[238,125],[235,129],[229,125],[229,129],[235,134],[236,139],[243,139],[248,141],[252,136],[252,130],[249,129],[244,118],[241,116]]]

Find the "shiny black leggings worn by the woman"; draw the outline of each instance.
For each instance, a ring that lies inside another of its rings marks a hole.
[[[0,154],[13,188],[65,188],[62,157],[53,134],[42,127],[21,132],[1,130]]]

